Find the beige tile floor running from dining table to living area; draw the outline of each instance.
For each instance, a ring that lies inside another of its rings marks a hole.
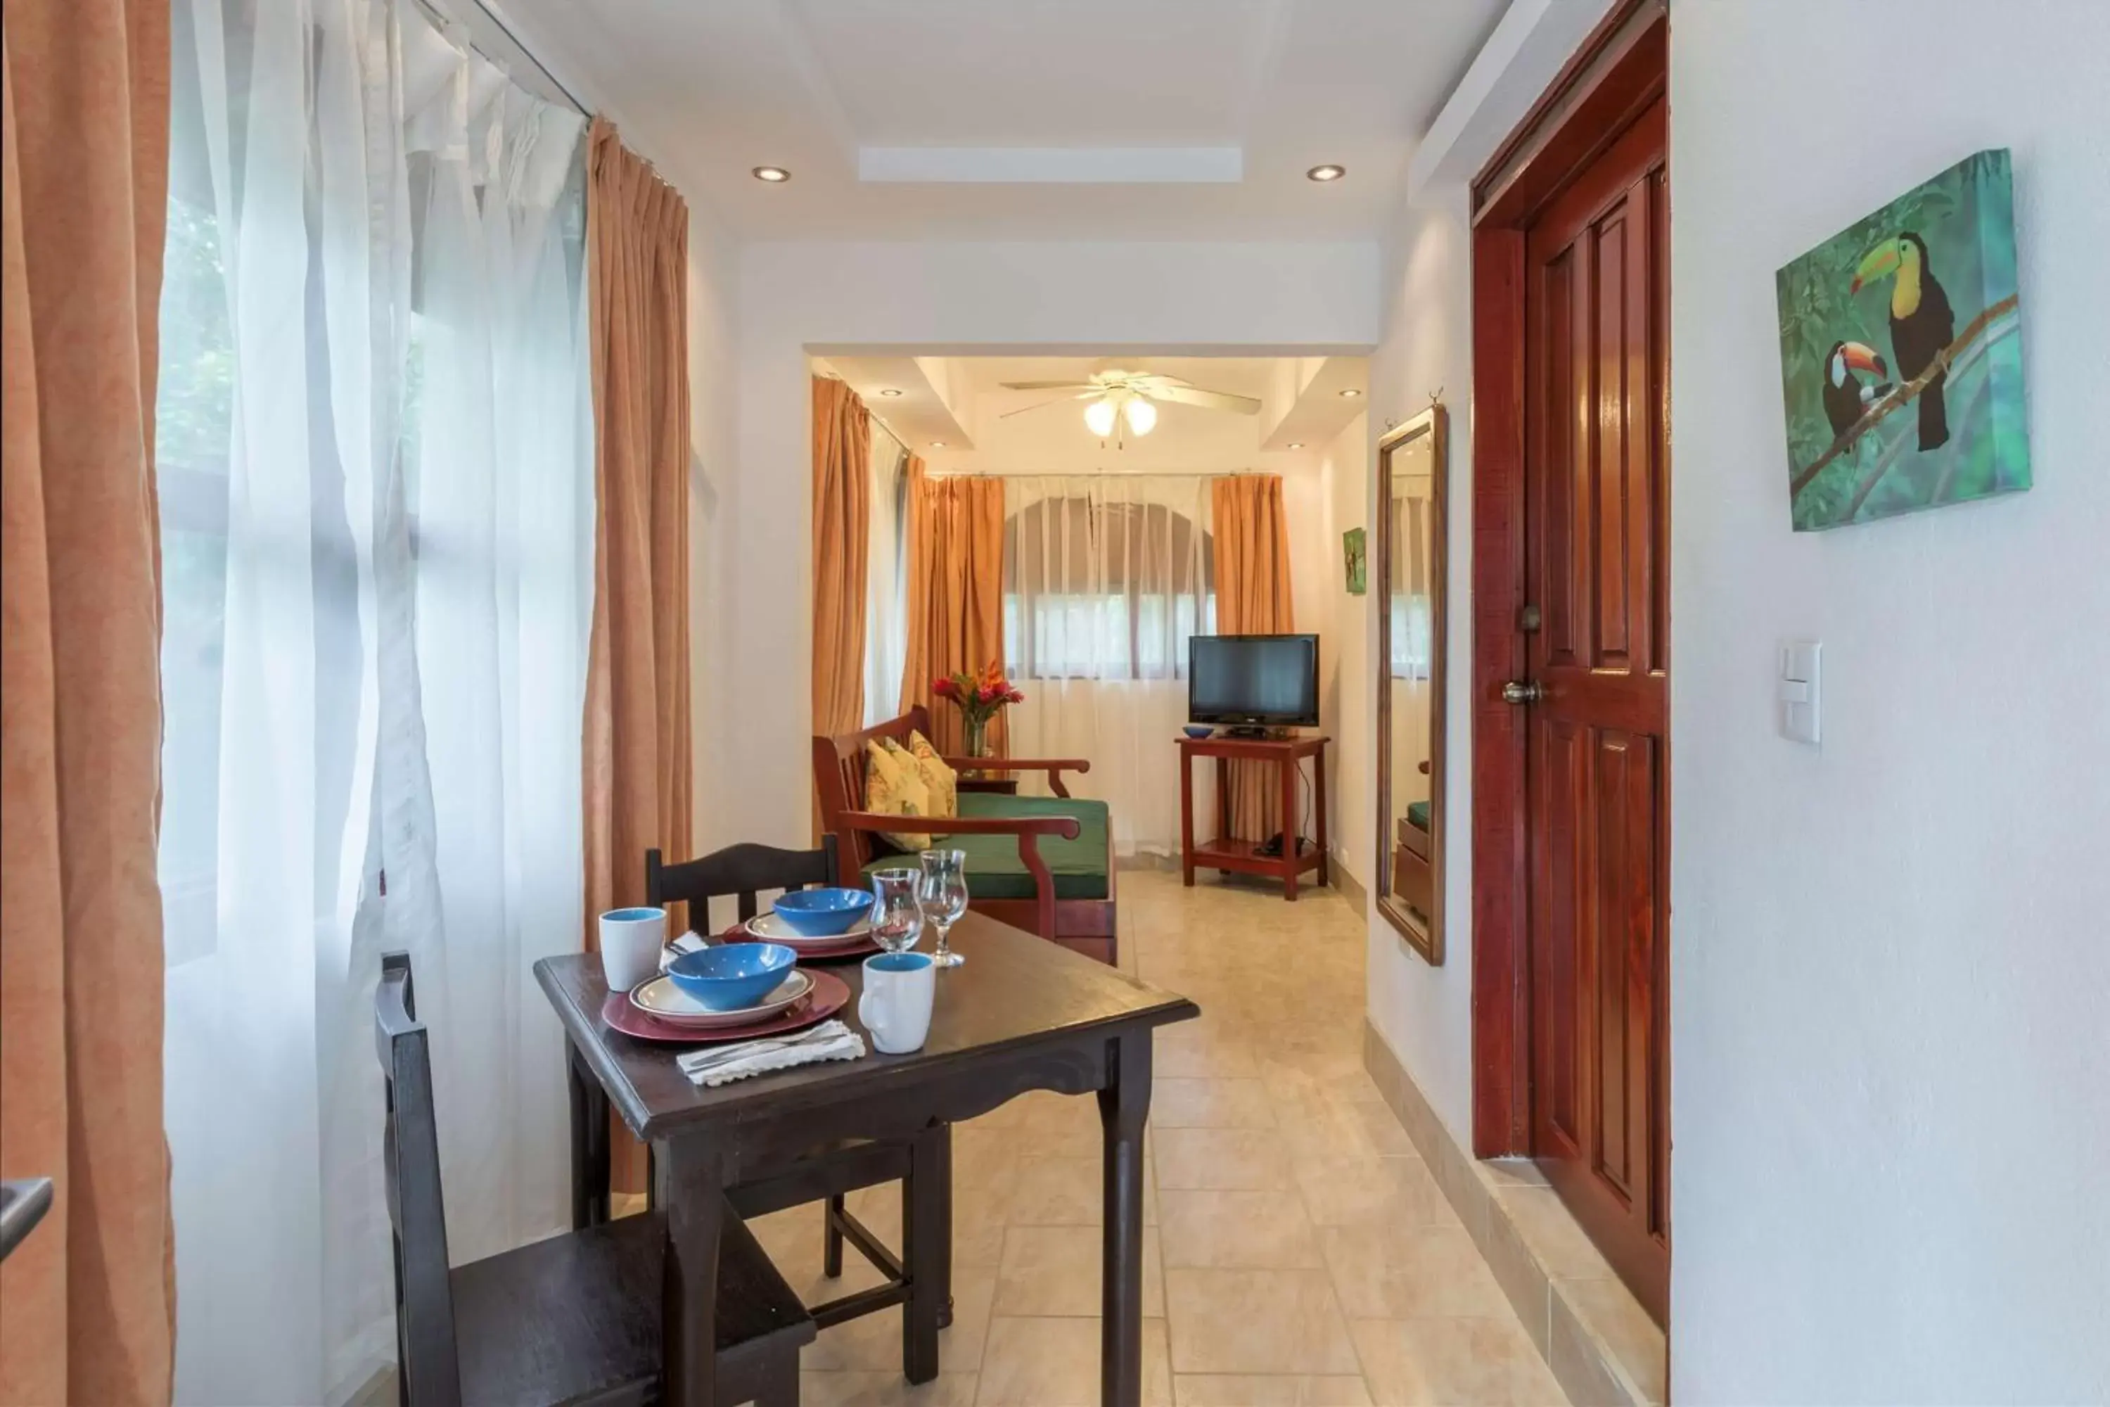
[[[1177,1407],[1557,1405],[1555,1386],[1363,1074],[1361,920],[1329,890],[1120,875],[1123,966],[1192,996],[1160,1032],[1144,1240],[1144,1401]],[[943,1373],[901,1380],[899,1310],[804,1356],[812,1407],[1099,1401],[1099,1124],[1028,1095],[954,1133],[954,1325]],[[899,1194],[852,1202],[893,1240]],[[793,1289],[819,1209],[755,1226]]]

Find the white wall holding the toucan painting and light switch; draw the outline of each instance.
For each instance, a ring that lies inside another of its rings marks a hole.
[[[2102,4],[1671,15],[1673,1401],[2110,1401],[2106,53]],[[2036,487],[1791,534],[1772,272],[1990,146]]]

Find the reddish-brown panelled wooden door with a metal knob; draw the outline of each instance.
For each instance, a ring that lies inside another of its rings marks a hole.
[[[1526,232],[1532,1154],[1669,1295],[1669,219],[1656,99]],[[1532,627],[1536,608],[1536,629]]]

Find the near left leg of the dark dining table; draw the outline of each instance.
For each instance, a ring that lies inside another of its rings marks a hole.
[[[654,1160],[667,1213],[660,1352],[669,1407],[717,1407],[717,1238],[724,1171],[701,1137],[669,1139]]]

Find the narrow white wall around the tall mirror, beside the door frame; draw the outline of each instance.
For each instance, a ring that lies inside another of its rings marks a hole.
[[[1443,869],[1443,966],[1433,968],[1405,945],[1399,932],[1372,907],[1369,913],[1369,1021],[1414,1076],[1422,1095],[1462,1148],[1473,1145],[1473,736],[1471,736],[1471,658],[1473,658],[1473,304],[1471,304],[1471,230],[1466,226],[1466,194],[1462,188],[1441,188],[1424,194],[1422,207],[1409,207],[1395,228],[1386,249],[1384,270],[1384,342],[1369,365],[1369,449],[1374,464],[1378,437],[1390,426],[1418,416],[1428,397],[1441,390],[1450,409],[1450,477],[1445,481],[1445,517],[1450,540],[1450,679],[1445,709],[1445,829]],[[1361,483],[1363,517],[1376,523],[1376,475]],[[1376,595],[1363,597],[1365,669],[1361,694],[1369,692],[1369,664],[1376,652]],[[1361,732],[1372,734],[1369,702],[1363,702]],[[1374,768],[1374,734],[1365,774]],[[1367,783],[1365,783],[1367,787]],[[1355,842],[1363,854],[1365,875],[1376,844],[1369,793],[1361,799],[1361,831]]]

